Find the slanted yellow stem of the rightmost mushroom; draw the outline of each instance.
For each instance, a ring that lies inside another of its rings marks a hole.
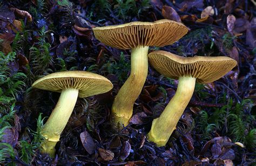
[[[196,78],[179,77],[176,94],[168,103],[164,112],[153,120],[151,130],[147,136],[149,140],[156,143],[158,147],[165,146],[176,125],[190,101]]]

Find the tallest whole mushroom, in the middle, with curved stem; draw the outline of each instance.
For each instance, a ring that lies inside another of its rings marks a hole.
[[[133,112],[133,104],[146,81],[149,46],[162,47],[179,40],[187,33],[185,25],[172,20],[156,22],[132,22],[123,25],[95,27],[95,37],[102,43],[117,49],[131,49],[131,74],[120,88],[112,105],[114,122],[127,126]]]

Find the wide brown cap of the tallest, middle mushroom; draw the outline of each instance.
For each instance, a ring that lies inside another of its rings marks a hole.
[[[187,27],[182,23],[168,19],[153,23],[132,22],[93,28],[95,37],[100,42],[117,49],[170,45],[183,37],[187,31]]]

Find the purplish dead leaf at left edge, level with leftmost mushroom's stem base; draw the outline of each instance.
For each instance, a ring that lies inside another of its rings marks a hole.
[[[3,132],[2,142],[9,143],[12,147],[15,147],[18,143],[19,133],[15,127],[6,128]]]

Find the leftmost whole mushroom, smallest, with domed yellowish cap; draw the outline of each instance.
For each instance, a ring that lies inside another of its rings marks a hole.
[[[105,93],[110,91],[113,85],[102,75],[85,71],[65,71],[46,75],[36,80],[32,87],[60,92],[57,105],[42,131],[45,137],[45,141],[42,143],[42,152],[54,157],[55,145],[59,141],[66,123],[68,123],[77,97],[85,98]]]

